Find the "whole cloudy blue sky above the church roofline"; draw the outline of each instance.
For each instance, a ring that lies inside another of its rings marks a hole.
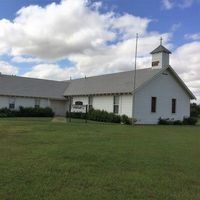
[[[125,71],[139,32],[138,67],[150,67],[162,36],[200,96],[199,19],[200,0],[1,0],[0,71],[56,80]]]

